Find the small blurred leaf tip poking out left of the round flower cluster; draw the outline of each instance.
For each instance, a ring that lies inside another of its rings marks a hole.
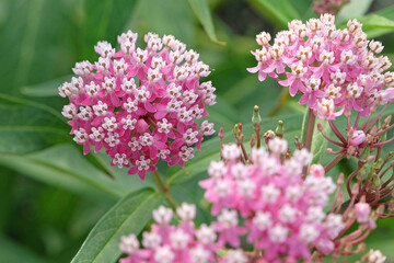
[[[68,75],[35,85],[24,85],[21,88],[21,92],[28,96],[58,96],[58,87],[66,81],[71,81],[71,77],[73,77],[73,75]]]

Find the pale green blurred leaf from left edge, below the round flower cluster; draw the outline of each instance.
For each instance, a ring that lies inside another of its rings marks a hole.
[[[132,190],[109,179],[71,145],[59,145],[26,156],[0,153],[0,164],[99,202],[116,201]]]

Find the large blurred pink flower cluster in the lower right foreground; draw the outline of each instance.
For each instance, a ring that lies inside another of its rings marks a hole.
[[[212,161],[210,178],[200,182],[212,214],[219,214],[213,224],[218,242],[237,248],[240,237],[247,235],[247,242],[263,251],[262,262],[310,260],[313,247],[323,254],[333,252],[345,222],[341,215],[323,209],[336,185],[320,164],[312,164],[303,179],[303,168],[312,160],[305,149],[283,160],[288,145],[276,137],[268,150],[253,148],[245,164],[240,148],[225,145],[223,161]]]

